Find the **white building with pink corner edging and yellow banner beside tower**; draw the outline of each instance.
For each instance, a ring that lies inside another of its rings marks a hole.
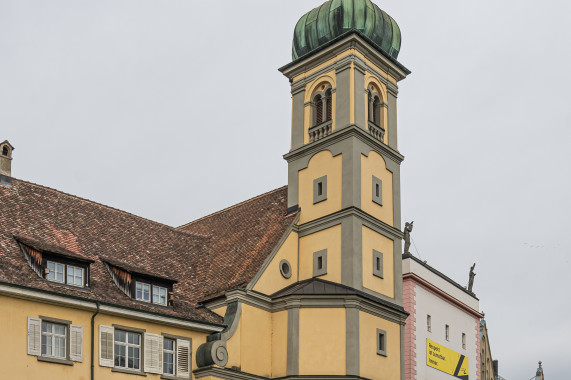
[[[484,379],[478,298],[411,254],[402,263],[405,379]]]

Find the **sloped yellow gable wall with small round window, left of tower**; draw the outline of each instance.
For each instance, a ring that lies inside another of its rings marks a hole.
[[[297,232],[291,232],[280,247],[270,265],[254,285],[254,290],[264,294],[273,294],[297,281]],[[280,261],[287,260],[291,266],[291,277],[284,278],[280,272]]]

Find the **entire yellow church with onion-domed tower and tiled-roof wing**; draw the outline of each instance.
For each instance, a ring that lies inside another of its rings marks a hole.
[[[0,357],[18,379],[405,378],[396,22],[295,27],[288,185],[172,228],[12,177]]]

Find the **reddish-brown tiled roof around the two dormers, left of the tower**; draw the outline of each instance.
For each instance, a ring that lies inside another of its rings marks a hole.
[[[79,296],[209,323],[222,318],[197,304],[247,284],[294,220],[286,188],[180,228],[21,180],[0,186],[0,282]],[[90,291],[40,278],[15,236],[35,248],[92,260]],[[176,280],[174,307],[131,300],[103,261]]]

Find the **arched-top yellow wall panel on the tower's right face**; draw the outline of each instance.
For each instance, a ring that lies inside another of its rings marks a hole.
[[[382,206],[373,202],[373,176],[383,183]],[[394,223],[393,173],[386,168],[383,157],[374,151],[369,152],[368,157],[361,155],[361,208],[391,226]]]

